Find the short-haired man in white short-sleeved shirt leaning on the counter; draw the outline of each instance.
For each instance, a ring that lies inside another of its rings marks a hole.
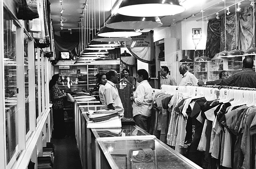
[[[118,74],[114,70],[109,70],[106,73],[106,77],[108,81],[104,89],[104,94],[106,98],[105,104],[111,110],[116,110],[117,112],[124,113],[124,107],[115,85],[116,83],[118,83]]]

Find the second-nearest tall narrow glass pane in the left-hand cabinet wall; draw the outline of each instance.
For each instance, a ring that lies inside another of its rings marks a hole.
[[[28,36],[24,33],[24,86],[25,86],[25,118],[26,134],[29,132],[29,99],[28,99]]]

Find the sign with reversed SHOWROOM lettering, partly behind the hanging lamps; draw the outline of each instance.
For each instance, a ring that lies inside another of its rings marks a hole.
[[[151,33],[145,32],[139,36],[131,36],[132,40],[124,42],[124,47],[152,47]]]

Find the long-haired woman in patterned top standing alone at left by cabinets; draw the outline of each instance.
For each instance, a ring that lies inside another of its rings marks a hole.
[[[54,138],[63,138],[66,133],[63,110],[64,98],[66,98],[66,95],[58,88],[58,83],[60,82],[60,75],[56,74],[52,76],[49,83],[50,98],[52,101]],[[65,138],[69,138],[69,136],[66,135]]]

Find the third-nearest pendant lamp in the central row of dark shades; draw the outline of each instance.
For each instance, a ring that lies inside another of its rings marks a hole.
[[[141,34],[140,29],[112,29],[106,26],[98,32],[98,36],[102,37],[129,37],[139,36]]]

